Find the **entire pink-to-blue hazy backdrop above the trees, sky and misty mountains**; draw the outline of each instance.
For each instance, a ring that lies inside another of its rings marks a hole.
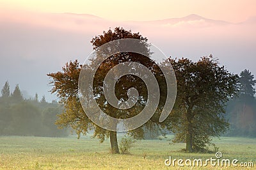
[[[27,97],[38,93],[51,102],[46,74],[67,61],[83,63],[90,40],[116,26],[139,31],[166,56],[212,54],[232,73],[247,68],[256,75],[255,9],[249,0],[0,0],[0,88],[8,80],[12,90],[19,84]]]

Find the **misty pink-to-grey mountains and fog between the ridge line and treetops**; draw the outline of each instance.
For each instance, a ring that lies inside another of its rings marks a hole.
[[[152,21],[113,21],[88,14],[16,12],[0,15],[0,86],[16,84],[24,98],[51,95],[47,73],[67,61],[83,63],[92,52],[90,40],[109,27],[140,32],[167,57],[198,60],[212,54],[232,73],[245,68],[256,74],[256,17],[231,23],[198,15]]]

